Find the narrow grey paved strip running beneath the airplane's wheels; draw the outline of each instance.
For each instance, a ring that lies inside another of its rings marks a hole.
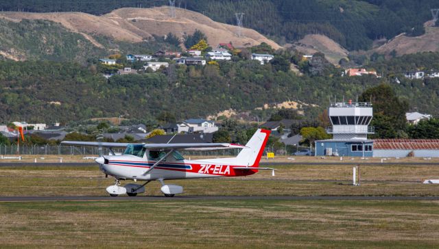
[[[120,200],[439,200],[439,196],[0,196],[0,202]]]

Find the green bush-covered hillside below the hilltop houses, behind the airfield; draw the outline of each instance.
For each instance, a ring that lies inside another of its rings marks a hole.
[[[436,53],[431,54],[428,61],[437,57]],[[414,60],[415,57],[405,57],[410,63]],[[164,112],[180,120],[204,118],[227,109],[263,119],[266,116],[257,107],[283,101],[308,104],[303,105],[305,115],[316,118],[333,96],[354,99],[366,88],[388,79],[399,98],[412,109],[439,114],[438,78],[410,81],[396,73],[401,83],[392,81],[395,75],[391,71],[403,66],[410,69],[404,60],[390,61],[394,66],[387,68],[385,75],[389,77],[384,79],[340,77],[336,68],[333,73],[324,74],[331,76],[299,77],[279,62],[281,58],[276,57],[265,65],[252,60],[204,67],[171,64],[156,73],[115,75],[108,80],[97,73],[94,64],[0,62],[0,122],[50,123],[110,116],[147,120]],[[379,63],[375,66],[383,68]]]

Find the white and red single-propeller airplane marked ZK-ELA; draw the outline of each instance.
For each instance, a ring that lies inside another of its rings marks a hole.
[[[161,192],[167,197],[182,194],[183,187],[165,184],[165,180],[200,179],[213,177],[248,176],[258,170],[274,168],[259,168],[259,161],[267,144],[269,130],[258,129],[245,146],[227,143],[197,143],[197,144],[126,144],[115,142],[79,142],[63,141],[62,144],[99,146],[110,150],[111,155],[99,155],[95,161],[106,176],[115,177],[115,185],[107,187],[110,196],[128,194],[137,196],[145,192],[145,185],[151,181],[159,181]],[[126,147],[123,155],[115,155],[112,148]],[[179,150],[219,150],[240,148],[236,157],[217,159],[187,160]],[[102,153],[99,153],[102,154]],[[143,185],[130,183],[121,187],[121,180],[145,181]]]

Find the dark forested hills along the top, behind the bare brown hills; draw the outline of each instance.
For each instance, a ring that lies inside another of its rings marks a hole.
[[[167,0],[21,0],[1,1],[3,11],[86,12],[105,14],[123,7],[150,8]],[[235,12],[243,12],[250,27],[278,42],[300,40],[306,34],[324,34],[346,49],[370,49],[372,41],[406,32],[418,36],[437,0],[176,0],[176,6],[200,12],[214,21],[236,24]]]

